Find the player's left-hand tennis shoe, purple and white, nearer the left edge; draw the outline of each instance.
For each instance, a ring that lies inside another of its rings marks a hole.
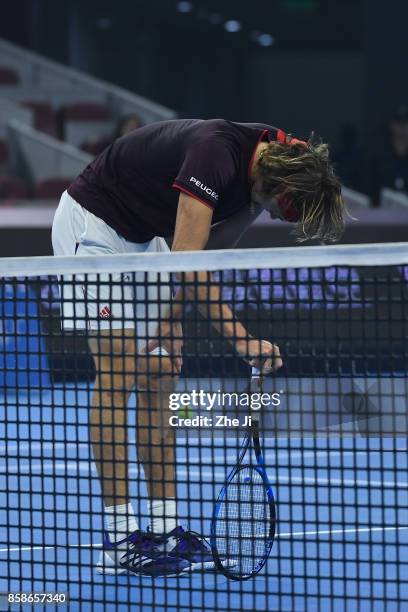
[[[99,574],[132,572],[143,576],[176,576],[189,571],[189,562],[160,550],[153,534],[134,531],[119,542],[105,532],[96,571]]]

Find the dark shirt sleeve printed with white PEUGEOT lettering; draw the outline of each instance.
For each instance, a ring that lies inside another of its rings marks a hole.
[[[207,140],[187,151],[173,187],[215,208],[236,176],[234,155],[226,143]]]

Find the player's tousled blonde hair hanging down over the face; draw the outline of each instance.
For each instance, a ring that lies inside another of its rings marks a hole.
[[[266,197],[279,192],[290,198],[299,213],[294,233],[299,242],[318,239],[336,242],[344,232],[346,207],[340,180],[329,160],[329,147],[270,142],[255,167]]]

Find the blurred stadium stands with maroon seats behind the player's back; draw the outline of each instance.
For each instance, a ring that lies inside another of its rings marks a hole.
[[[3,39],[0,57],[0,199],[8,203],[58,198],[69,177],[110,144],[120,118],[136,114],[145,124],[175,117],[159,104]]]

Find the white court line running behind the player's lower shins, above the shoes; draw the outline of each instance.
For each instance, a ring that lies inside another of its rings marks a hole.
[[[179,462],[180,463],[180,462]],[[70,469],[72,469],[73,473],[72,476],[74,476],[75,472],[87,472],[89,476],[93,476],[96,475],[96,468],[95,466],[88,462],[88,461],[72,461],[72,462],[53,462],[53,461],[49,461],[49,462],[40,462],[40,463],[30,463],[26,466],[13,466],[13,468],[8,468],[8,470],[0,470],[0,473],[9,473],[9,474],[22,474],[24,473],[24,470],[21,469],[21,467],[27,468],[27,471],[25,472],[26,475],[30,475],[32,473],[33,470],[37,470],[42,473],[47,471],[48,469],[50,471],[56,471],[56,470],[61,470],[61,471],[68,471]],[[292,468],[292,469],[296,469],[296,468]],[[301,468],[297,468],[297,469],[301,469]],[[340,468],[336,468],[336,469],[340,469]],[[195,470],[195,469],[177,469],[177,474],[180,475],[185,475],[188,477],[204,477],[204,478],[208,478],[209,480],[213,480],[215,478],[217,478],[220,481],[225,480],[226,478],[226,473],[227,473],[228,469],[226,470]],[[129,474],[130,475],[137,475],[137,476],[141,476],[142,478],[143,476],[143,472],[140,468],[138,468],[137,466],[132,467],[129,469]],[[313,484],[313,483],[317,483],[319,485],[341,485],[341,486],[361,486],[361,487],[386,487],[386,488],[396,488],[396,489],[407,489],[408,490],[408,482],[394,482],[391,480],[362,480],[362,479],[348,479],[348,478],[314,478],[313,476],[292,476],[290,474],[288,474],[287,476],[284,475],[279,475],[277,474],[276,476],[276,480],[275,482],[281,483],[281,482],[285,482],[285,483],[298,483],[298,484]],[[183,484],[183,482],[179,483],[179,484]],[[272,483],[273,484],[273,483]]]

